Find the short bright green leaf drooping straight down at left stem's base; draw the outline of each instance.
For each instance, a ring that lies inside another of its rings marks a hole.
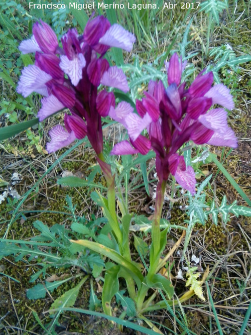
[[[102,292],[102,306],[105,314],[112,315],[110,302],[113,296],[119,290],[119,283],[118,283],[118,272],[119,266],[115,265],[110,269],[106,270],[104,276],[104,286]]]

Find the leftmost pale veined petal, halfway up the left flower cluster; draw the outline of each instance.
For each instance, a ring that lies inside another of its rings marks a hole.
[[[48,89],[45,84],[51,79],[52,77],[38,66],[28,65],[22,70],[17,92],[25,98],[32,92],[48,95]]]

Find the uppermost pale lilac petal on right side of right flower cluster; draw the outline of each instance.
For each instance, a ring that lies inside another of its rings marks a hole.
[[[212,98],[213,104],[221,104],[227,109],[232,109],[234,107],[233,98],[230,94],[230,90],[223,84],[216,84],[209,89],[204,95],[208,98]]]

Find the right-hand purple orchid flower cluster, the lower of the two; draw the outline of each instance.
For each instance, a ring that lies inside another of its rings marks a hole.
[[[234,133],[227,125],[227,111],[213,108],[215,104],[233,108],[232,96],[223,84],[213,84],[213,73],[201,72],[186,88],[181,83],[182,64],[174,54],[167,65],[168,87],[161,81],[150,81],[145,97],[136,101],[140,117],[128,105],[127,113],[121,113],[119,105],[111,108],[109,115],[121,122],[129,133],[129,141],[114,146],[111,154],[146,154],[150,148],[156,152],[156,169],[160,181],[171,173],[177,182],[192,194],[195,192],[195,173],[186,166],[184,157],[177,151],[188,141],[195,144],[237,147]],[[132,125],[132,120],[134,121]],[[147,129],[149,138],[141,135]]]

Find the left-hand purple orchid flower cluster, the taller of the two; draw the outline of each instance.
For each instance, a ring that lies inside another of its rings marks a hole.
[[[96,154],[102,152],[101,116],[115,107],[115,97],[105,88],[98,92],[98,86],[129,91],[122,70],[110,66],[104,55],[110,47],[131,51],[135,40],[133,34],[117,24],[111,26],[99,16],[88,21],[82,35],[70,29],[62,37],[60,47],[50,26],[42,21],[35,23],[33,36],[19,47],[23,53],[36,53],[35,65],[24,68],[17,91],[24,97],[32,92],[44,96],[39,121],[65,108],[71,112],[65,114],[65,128],[57,125],[49,132],[48,152],[86,135]]]

